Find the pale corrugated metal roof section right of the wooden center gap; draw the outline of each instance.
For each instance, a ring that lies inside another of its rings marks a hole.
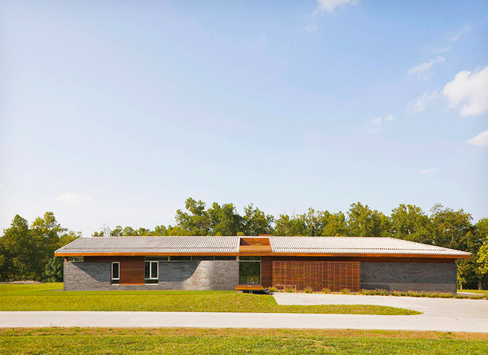
[[[358,236],[271,236],[274,253],[470,255],[460,250],[394,238]]]

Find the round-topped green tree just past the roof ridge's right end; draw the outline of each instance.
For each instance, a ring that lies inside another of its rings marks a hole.
[[[433,243],[432,224],[428,215],[415,205],[400,204],[391,213],[391,234],[394,238]]]

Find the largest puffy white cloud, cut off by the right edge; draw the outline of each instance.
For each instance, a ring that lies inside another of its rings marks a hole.
[[[463,104],[459,115],[473,116],[488,110],[488,66],[475,72],[463,70],[447,83],[442,91],[449,107]]]

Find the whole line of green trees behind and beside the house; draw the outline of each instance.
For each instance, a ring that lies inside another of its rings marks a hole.
[[[468,251],[472,257],[458,261],[458,283],[462,288],[488,288],[488,218],[473,223],[463,209],[437,203],[430,215],[415,205],[400,204],[390,215],[353,203],[346,213],[309,208],[306,213],[268,215],[252,204],[240,215],[233,203],[206,203],[187,199],[176,211],[175,226],[104,226],[93,236],[389,236],[445,248]],[[19,215],[0,237],[0,281],[62,279],[62,264],[53,258],[56,248],[78,238],[68,232],[53,213],[38,217],[31,226]],[[61,266],[60,266],[61,265]]]

